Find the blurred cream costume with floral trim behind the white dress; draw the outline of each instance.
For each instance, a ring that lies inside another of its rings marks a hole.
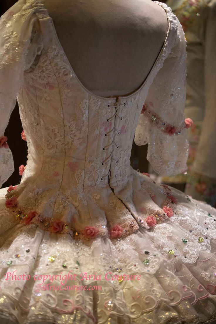
[[[185,117],[192,118],[188,170],[163,177],[167,184],[181,189],[212,206],[216,203],[216,1],[168,0],[178,17],[187,40],[187,97]],[[151,171],[150,171],[151,172]]]

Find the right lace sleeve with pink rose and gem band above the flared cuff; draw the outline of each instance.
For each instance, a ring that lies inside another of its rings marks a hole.
[[[176,23],[176,41],[149,87],[134,138],[137,145],[148,143],[147,159],[164,176],[187,169],[186,128],[192,124],[184,120],[186,41],[177,18]]]

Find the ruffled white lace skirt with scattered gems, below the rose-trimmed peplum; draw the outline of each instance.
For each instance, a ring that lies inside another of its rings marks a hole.
[[[2,324],[216,321],[210,206],[191,200],[152,229],[84,242],[17,223],[0,193]]]

